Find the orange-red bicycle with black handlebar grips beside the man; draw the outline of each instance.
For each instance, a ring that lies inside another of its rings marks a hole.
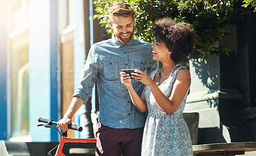
[[[65,154],[63,153],[63,146],[65,143],[96,143],[96,138],[86,138],[86,139],[85,138],[67,138],[67,136],[68,136],[67,131],[60,132],[59,129],[57,129],[56,127],[52,127],[52,125],[57,125],[57,122],[54,122],[52,120],[45,119],[45,118],[38,118],[38,122],[44,122],[46,124],[38,124],[37,126],[54,128],[61,135],[60,142],[58,143],[57,146],[52,148],[52,150],[50,150],[47,153],[48,156],[51,156],[52,155],[51,152],[57,147],[58,148],[56,150],[55,156],[65,156]],[[68,129],[73,129],[73,130],[81,132],[83,130],[83,127],[76,126],[76,125],[68,125]]]

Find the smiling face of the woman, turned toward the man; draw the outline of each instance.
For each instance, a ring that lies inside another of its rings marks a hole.
[[[152,45],[153,59],[163,62],[165,59],[170,59],[170,53],[163,41],[155,41]]]

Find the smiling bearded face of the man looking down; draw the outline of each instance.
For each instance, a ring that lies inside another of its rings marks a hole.
[[[132,34],[134,32],[134,20],[132,20],[131,16],[115,16],[115,18],[113,18],[113,22],[109,22],[109,24],[113,29],[117,41],[123,44],[131,41]]]

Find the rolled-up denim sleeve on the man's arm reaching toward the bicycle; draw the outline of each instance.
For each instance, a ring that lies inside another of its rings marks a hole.
[[[84,103],[86,103],[88,98],[92,96],[92,89],[97,79],[98,72],[99,64],[97,62],[97,48],[92,46],[84,64],[83,80],[81,80],[79,83],[76,92],[73,94],[73,97],[81,97]]]

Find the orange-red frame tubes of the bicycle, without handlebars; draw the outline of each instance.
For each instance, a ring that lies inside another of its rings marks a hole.
[[[63,146],[65,143],[96,143],[96,138],[67,138],[67,131],[62,132],[61,142],[58,145],[55,156],[65,156],[62,152]]]

